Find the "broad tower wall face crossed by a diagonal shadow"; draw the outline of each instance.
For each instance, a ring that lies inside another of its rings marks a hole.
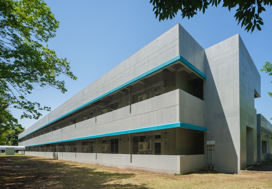
[[[205,49],[206,127],[215,138],[214,170],[239,172],[239,35]],[[208,163],[208,153],[207,153]],[[211,158],[211,156],[210,156]],[[210,161],[211,162],[211,161]]]

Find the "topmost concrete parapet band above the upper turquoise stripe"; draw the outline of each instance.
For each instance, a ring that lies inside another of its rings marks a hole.
[[[27,128],[19,135],[19,138],[179,54],[204,72],[203,48],[181,25],[177,24]]]

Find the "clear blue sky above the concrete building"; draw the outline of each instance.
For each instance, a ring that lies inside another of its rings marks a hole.
[[[72,81],[66,77],[68,92],[56,89],[36,90],[28,99],[49,106],[52,110],[77,92],[104,75],[126,58],[136,53],[158,36],[180,23],[205,49],[237,33],[241,35],[258,70],[265,61],[272,62],[272,8],[261,14],[264,26],[261,31],[247,33],[234,18],[234,11],[208,7],[189,20],[181,19],[180,13],[173,20],[159,22],[149,0],[140,1],[71,1],[45,0],[55,18],[60,21],[56,37],[49,40],[49,48],[58,57],[67,58],[71,71],[78,77]],[[255,99],[257,113],[268,120],[272,117],[270,98],[272,76],[261,75],[261,97]],[[21,112],[12,110],[23,127],[28,128],[37,120],[20,119]],[[42,112],[46,115],[48,112]],[[272,123],[272,121],[271,121]]]

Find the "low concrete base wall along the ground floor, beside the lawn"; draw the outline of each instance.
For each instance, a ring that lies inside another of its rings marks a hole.
[[[206,159],[204,154],[189,156],[161,156],[37,151],[26,151],[25,154],[168,175],[172,175],[174,173],[187,174],[206,169]]]

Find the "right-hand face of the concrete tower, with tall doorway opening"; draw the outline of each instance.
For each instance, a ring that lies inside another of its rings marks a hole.
[[[260,93],[260,74],[245,44],[239,41],[240,168],[257,163],[257,111],[254,94]]]

